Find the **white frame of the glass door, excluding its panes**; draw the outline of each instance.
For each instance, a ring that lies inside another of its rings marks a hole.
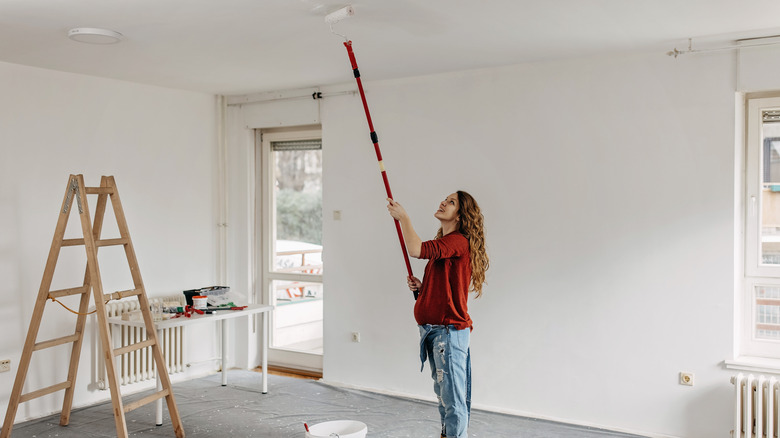
[[[274,235],[276,227],[275,209],[273,208],[274,199],[274,161],[271,150],[272,141],[284,140],[311,140],[321,139],[322,128],[320,126],[304,126],[294,128],[275,128],[255,131],[256,148],[256,205],[260,220],[255,223],[256,251],[258,254],[258,279],[260,287],[257,290],[260,296],[258,301],[263,304],[273,304],[274,281],[318,281],[322,282],[322,275],[319,274],[296,274],[285,272],[274,272]],[[258,238],[259,237],[259,238]],[[270,365],[281,366],[285,368],[301,369],[306,371],[322,372],[322,355],[291,351],[281,348],[274,348],[270,341],[273,336],[273,313],[268,324],[269,343],[268,363]]]

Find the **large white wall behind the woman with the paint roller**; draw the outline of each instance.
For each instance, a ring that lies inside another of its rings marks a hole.
[[[382,82],[361,68],[391,187],[417,231],[433,236],[437,203],[458,189],[485,214],[492,263],[470,309],[477,408],[728,436],[735,67],[731,53],[659,53]],[[740,90],[746,71],[780,87],[757,68],[742,65]],[[261,106],[232,114],[242,135],[301,124],[289,107]],[[431,399],[360,100],[325,98],[320,117],[324,379]],[[678,384],[681,371],[694,387]]]

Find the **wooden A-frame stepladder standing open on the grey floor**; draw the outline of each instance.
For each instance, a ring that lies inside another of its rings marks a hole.
[[[90,220],[87,195],[98,195],[97,205],[95,207],[94,223]],[[111,200],[111,205],[114,210],[114,217],[116,218],[117,226],[119,228],[120,237],[118,239],[100,238],[100,233],[103,228],[103,216],[105,214],[107,201],[109,198]],[[74,201],[76,204],[75,207],[79,212],[79,217],[81,218],[81,229],[84,237],[80,239],[65,239],[65,229],[68,224],[68,218],[70,217],[70,211],[74,207]],[[84,245],[87,252],[87,267],[84,274],[84,284],[80,287],[74,287],[70,289],[54,291],[50,290],[60,249],[63,246],[75,245]],[[97,259],[97,249],[101,246],[111,245],[122,245],[124,247],[125,255],[127,256],[127,263],[133,278],[134,289],[110,294],[103,293],[103,284],[100,278],[100,269]],[[65,400],[62,403],[60,425],[68,425],[70,421],[70,411],[73,405],[73,392],[76,383],[79,356],[81,354],[81,344],[84,340],[87,310],[92,292],[94,292],[95,298],[95,311],[97,314],[97,324],[99,326],[98,331],[100,332],[100,342],[103,346],[103,354],[105,356],[106,376],[109,383],[109,389],[111,390],[111,401],[114,407],[114,421],[116,423],[117,437],[127,437],[127,423],[125,421],[125,413],[153,401],[159,400],[162,397],[165,397],[168,403],[168,412],[170,413],[171,423],[173,425],[176,436],[180,438],[184,437],[184,429],[182,428],[181,418],[179,417],[179,410],[176,407],[176,400],[173,397],[173,391],[171,389],[168,368],[165,365],[165,360],[158,343],[157,331],[154,328],[152,314],[149,308],[149,300],[146,297],[146,290],[144,289],[143,281],[141,280],[141,273],[138,269],[138,260],[136,259],[133,243],[130,240],[130,234],[127,230],[127,222],[125,220],[124,211],[122,210],[122,203],[119,200],[119,192],[117,191],[114,177],[102,177],[100,180],[100,187],[85,187],[84,177],[82,175],[70,175],[70,178],[68,179],[68,186],[65,191],[65,197],[62,201],[62,207],[60,208],[57,227],[54,231],[54,239],[52,240],[51,249],[49,250],[49,258],[46,261],[43,280],[41,280],[41,287],[38,291],[38,299],[35,302],[32,319],[30,320],[30,328],[27,332],[27,338],[24,343],[22,357],[19,360],[19,368],[16,373],[16,380],[14,382],[13,390],[11,391],[11,398],[8,401],[8,410],[6,411],[5,421],[3,423],[2,433],[0,433],[0,438],[8,438],[11,436],[11,429],[13,428],[13,423],[16,417],[17,408],[19,407],[19,403],[26,402],[60,390],[65,390]],[[79,310],[77,313],[78,317],[76,318],[75,333],[57,339],[38,342],[38,329],[40,328],[41,320],[43,319],[43,310],[47,301],[49,299],[54,300],[56,298],[70,295],[81,295]],[[107,316],[105,305],[110,300],[133,296],[138,298],[141,311],[143,313],[147,339],[133,345],[114,349],[111,342],[109,325],[106,319]],[[73,344],[67,380],[62,383],[52,385],[48,388],[22,394],[22,389],[24,387],[24,381],[30,366],[32,353],[38,350],[43,350],[67,343]],[[114,357],[127,353],[128,351],[139,350],[146,347],[151,347],[152,349],[152,355],[157,366],[157,372],[160,376],[160,383],[162,383],[162,390],[133,403],[123,405],[122,395],[119,391],[119,381],[117,379],[114,366]]]

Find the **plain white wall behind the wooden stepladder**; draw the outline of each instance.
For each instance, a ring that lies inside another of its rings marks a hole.
[[[116,177],[149,296],[214,282],[217,108],[211,95],[5,63],[0,95],[0,358],[12,364],[0,374],[4,414],[69,174],[84,174],[88,186],[99,185],[101,175]],[[70,224],[66,237],[76,237],[77,214]],[[112,231],[107,216],[104,236]],[[113,249],[100,250],[106,292],[132,288],[122,251]],[[80,285],[84,261],[83,249],[64,248],[52,288]],[[109,398],[95,389],[93,320],[76,407]],[[38,340],[74,328],[75,316],[49,303]],[[207,337],[206,357],[214,356],[210,343]],[[190,353],[191,360],[201,354]],[[64,381],[69,357],[70,345],[34,353],[27,391]],[[60,411],[62,394],[20,405],[17,421]]]

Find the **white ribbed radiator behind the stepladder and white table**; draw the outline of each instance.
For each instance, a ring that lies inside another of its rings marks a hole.
[[[163,298],[149,298],[149,304],[155,302],[178,303],[184,306],[184,295],[174,295]],[[137,299],[127,301],[112,301],[106,304],[106,313],[109,318],[121,317],[123,313],[139,310]],[[114,348],[121,348],[130,344],[144,341],[146,339],[146,329],[141,327],[127,327],[123,325],[110,324],[111,338]],[[174,327],[162,330],[158,333],[160,348],[165,358],[168,374],[175,374],[184,371],[184,327]],[[99,354],[99,358],[103,355]],[[152,357],[152,348],[142,348],[119,355],[115,359],[117,379],[120,385],[129,385],[155,378],[155,363]],[[101,389],[108,389],[105,384],[105,365],[99,364],[99,382]]]

